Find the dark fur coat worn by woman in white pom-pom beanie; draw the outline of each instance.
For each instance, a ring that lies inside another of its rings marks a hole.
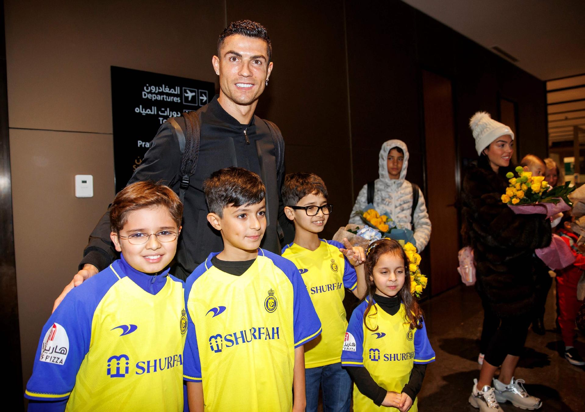
[[[534,250],[550,244],[551,228],[542,214],[514,214],[501,201],[508,182],[491,169],[472,165],[462,189],[462,234],[473,248],[476,288],[500,317],[528,314],[535,290],[548,268]],[[548,275],[546,275],[548,276]]]

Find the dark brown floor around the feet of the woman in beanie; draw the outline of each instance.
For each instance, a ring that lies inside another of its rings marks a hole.
[[[585,411],[585,369],[563,358],[560,335],[555,332],[555,284],[546,303],[546,334],[528,332],[525,354],[517,378],[526,380],[526,390],[543,400],[542,411]],[[477,411],[467,402],[473,378],[479,377],[477,354],[483,311],[473,288],[460,286],[422,303],[426,327],[436,362],[426,370],[419,393],[421,411]],[[576,347],[585,356],[585,339]],[[503,404],[504,411],[519,411]]]

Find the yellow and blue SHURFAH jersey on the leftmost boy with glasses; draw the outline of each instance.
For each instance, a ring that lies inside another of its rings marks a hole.
[[[68,399],[67,411],[183,411],[184,283],[167,272],[153,295],[118,260],[71,290],[43,329],[25,396]]]

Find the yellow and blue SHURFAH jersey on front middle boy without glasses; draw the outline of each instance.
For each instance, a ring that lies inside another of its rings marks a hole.
[[[240,276],[214,255],[185,286],[184,379],[202,382],[207,411],[290,411],[294,349],[321,332],[301,276],[262,249]]]

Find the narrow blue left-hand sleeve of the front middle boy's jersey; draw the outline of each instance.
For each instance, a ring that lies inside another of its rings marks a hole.
[[[199,359],[199,347],[197,345],[197,331],[191,318],[188,302],[191,290],[197,278],[205,272],[205,264],[201,264],[187,278],[185,285],[185,309],[187,311],[187,338],[183,349],[183,379],[188,382],[201,382],[201,360]]]

